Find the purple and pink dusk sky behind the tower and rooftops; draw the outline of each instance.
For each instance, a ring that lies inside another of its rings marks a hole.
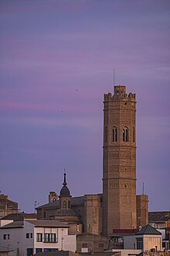
[[[137,194],[170,210],[170,1],[0,2],[0,191],[33,213],[102,192],[103,101],[137,98]]]

